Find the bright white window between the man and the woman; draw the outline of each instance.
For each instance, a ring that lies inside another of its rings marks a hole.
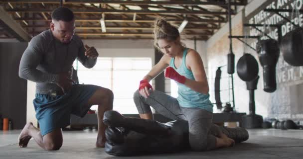
[[[76,69],[77,61],[74,66]],[[92,69],[78,62],[78,78],[81,84],[95,84],[111,89],[114,93],[114,110],[122,114],[137,114],[133,95],[140,80],[151,68],[151,58],[98,58]],[[91,109],[97,109],[97,105]]]

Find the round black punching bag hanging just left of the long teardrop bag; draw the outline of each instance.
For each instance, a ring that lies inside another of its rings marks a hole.
[[[258,62],[254,56],[245,53],[237,63],[237,74],[240,79],[250,81],[256,79],[259,73]]]

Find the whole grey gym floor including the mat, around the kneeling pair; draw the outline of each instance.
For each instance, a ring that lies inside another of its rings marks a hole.
[[[138,157],[115,157],[95,148],[96,132],[65,131],[59,151],[47,152],[30,140],[18,148],[20,130],[0,131],[0,159],[302,159],[303,130],[250,129],[250,139],[233,148],[209,152],[180,152]]]

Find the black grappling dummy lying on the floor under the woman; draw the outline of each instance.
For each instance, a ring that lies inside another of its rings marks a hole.
[[[138,118],[136,123],[130,122],[133,118],[124,117],[113,110],[106,111],[105,115],[103,122],[109,126],[105,131],[104,150],[107,154],[114,156],[154,155],[180,152],[190,148],[188,122],[185,120],[170,121],[165,124],[161,123],[161,125],[158,125],[155,120],[150,120],[144,125],[137,125],[138,122],[147,120]],[[154,127],[155,125],[157,126]],[[163,129],[169,127],[170,134],[151,133],[151,131],[156,132],[160,127]],[[246,141],[249,138],[249,134],[244,128],[226,128],[213,124],[209,132],[216,137],[220,137],[222,132],[236,143]]]

